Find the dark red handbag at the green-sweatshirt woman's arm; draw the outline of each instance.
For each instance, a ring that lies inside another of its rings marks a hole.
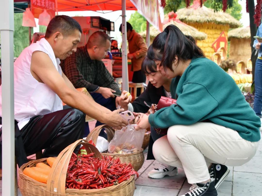
[[[176,99],[172,99],[172,98],[169,98],[169,97],[164,97],[164,96],[161,96],[159,102],[156,104],[152,104],[151,107],[146,103],[144,102],[148,107],[150,107],[152,109],[152,112],[153,114],[155,113],[155,111],[163,108],[163,107],[168,107],[168,106],[171,106],[172,104],[176,104],[177,100]],[[159,135],[166,135],[167,134],[167,130],[168,128],[164,128],[164,129],[161,129],[161,128],[155,128],[156,130],[156,133],[159,134]]]

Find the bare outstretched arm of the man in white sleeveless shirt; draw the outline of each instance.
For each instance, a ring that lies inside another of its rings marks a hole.
[[[31,73],[38,81],[40,80],[39,82],[45,83],[53,90],[65,104],[77,108],[88,116],[110,126],[120,127],[127,125],[127,121],[118,115],[118,111],[110,111],[110,114],[105,113],[96,107],[97,103],[90,99],[90,97],[84,96],[84,94],[77,90],[73,90],[72,87],[68,87],[46,53],[35,51],[32,54]]]

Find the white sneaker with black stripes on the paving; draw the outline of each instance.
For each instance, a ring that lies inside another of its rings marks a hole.
[[[176,176],[178,174],[177,167],[170,165],[162,165],[160,168],[154,168],[148,173],[148,177],[160,179],[165,176]]]

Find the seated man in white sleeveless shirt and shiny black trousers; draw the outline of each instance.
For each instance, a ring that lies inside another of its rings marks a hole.
[[[44,157],[57,156],[82,138],[85,114],[114,128],[128,124],[118,114],[122,109],[111,112],[97,104],[78,92],[62,72],[59,59],[77,50],[81,32],[73,18],[55,16],[45,38],[25,48],[14,63],[15,141],[20,141],[15,143],[15,152],[19,165],[26,161],[25,153],[45,149]],[[0,92],[2,117],[2,86]],[[62,101],[72,108],[63,110]]]

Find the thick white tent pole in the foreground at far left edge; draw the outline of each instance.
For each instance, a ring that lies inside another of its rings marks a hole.
[[[14,195],[14,0],[1,1],[2,195]]]

